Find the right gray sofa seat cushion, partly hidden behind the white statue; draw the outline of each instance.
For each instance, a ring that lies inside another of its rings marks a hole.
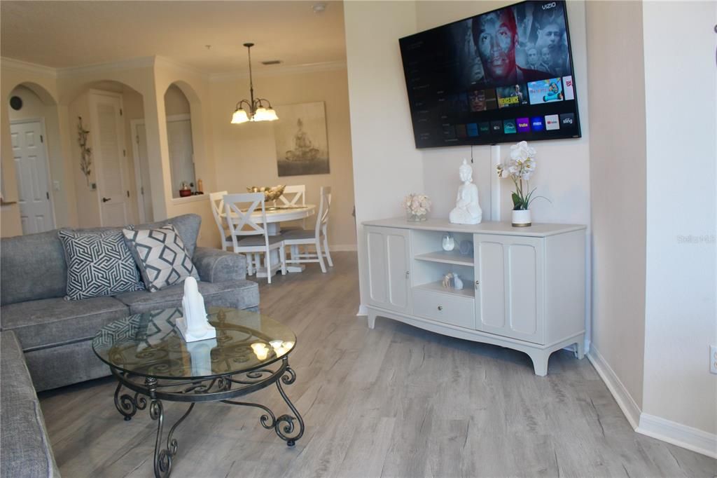
[[[197,282],[199,294],[204,296],[206,306],[234,307],[248,309],[259,305],[259,285],[256,282],[239,280],[224,282]],[[157,292],[136,291],[120,294],[117,299],[129,306],[130,314],[141,314],[158,309],[181,307],[184,283],[169,286]]]

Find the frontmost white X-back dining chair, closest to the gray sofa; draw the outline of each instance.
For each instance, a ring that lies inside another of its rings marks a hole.
[[[249,205],[244,210],[239,205]],[[261,222],[252,220],[254,212],[261,211]],[[232,240],[232,249],[235,253],[247,255],[247,268],[251,255],[254,253],[264,254],[264,266],[267,271],[267,282],[271,283],[271,277],[275,268],[281,268],[281,273],[286,274],[286,254],[284,240],[281,235],[269,235],[267,231],[267,215],[264,206],[263,192],[244,192],[234,195],[224,195],[224,217],[229,227],[229,238]],[[271,265],[271,251],[277,249],[280,263]],[[255,269],[259,272],[260,261],[255,261]]]

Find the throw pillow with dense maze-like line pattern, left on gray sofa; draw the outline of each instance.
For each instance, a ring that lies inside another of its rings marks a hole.
[[[65,249],[67,296],[76,301],[144,289],[120,230],[60,230]]]

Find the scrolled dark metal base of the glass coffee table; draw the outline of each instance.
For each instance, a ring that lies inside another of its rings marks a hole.
[[[178,441],[174,438],[174,431],[184,419],[189,416],[194,405],[199,402],[221,401],[230,405],[249,406],[260,408],[264,413],[260,416],[261,425],[270,430],[274,428],[277,436],[286,441],[288,446],[294,446],[296,441],[304,434],[304,421],[299,411],[286,395],[282,388],[291,385],[296,380],[296,373],[289,366],[288,357],[283,357],[277,370],[260,369],[234,375],[220,375],[206,380],[163,380],[144,378],[141,382],[137,375],[129,375],[112,368],[112,373],[118,380],[115,390],[115,407],[129,421],[138,410],[144,410],[148,405],[149,416],[157,421],[157,438],[154,445],[154,475],[158,478],[168,477],[172,470],[172,460],[177,453]],[[132,380],[132,379],[135,380]],[[276,416],[267,406],[260,403],[233,400],[247,393],[255,392],[273,383],[291,413]],[[123,393],[122,387],[129,388],[134,393]],[[146,398],[148,397],[148,398]],[[184,415],[170,428],[166,438],[166,447],[163,448],[164,407],[162,400],[189,402]],[[295,424],[298,423],[298,426]]]

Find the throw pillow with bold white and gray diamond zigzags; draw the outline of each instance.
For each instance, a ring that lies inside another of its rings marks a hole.
[[[173,225],[159,229],[123,229],[122,232],[150,292],[181,283],[189,276],[199,280],[184,242]]]

